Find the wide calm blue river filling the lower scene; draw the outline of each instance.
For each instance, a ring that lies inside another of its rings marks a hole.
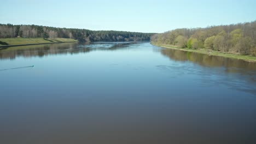
[[[0,69],[0,143],[256,143],[256,63],[63,43],[2,49]]]

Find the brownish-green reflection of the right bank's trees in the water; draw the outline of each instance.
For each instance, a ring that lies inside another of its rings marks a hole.
[[[192,61],[207,67],[225,67],[229,68],[227,69],[229,72],[235,72],[239,69],[256,70],[256,63],[246,62],[239,59],[208,56],[201,53],[173,49],[161,49],[161,53],[175,61]]]

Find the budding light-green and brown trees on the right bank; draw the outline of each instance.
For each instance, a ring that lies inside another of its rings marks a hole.
[[[211,49],[256,56],[256,21],[207,28],[181,28],[154,34],[153,44]]]

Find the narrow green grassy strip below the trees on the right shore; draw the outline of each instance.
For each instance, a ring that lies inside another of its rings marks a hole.
[[[188,49],[188,48],[180,48],[178,46],[173,46],[173,45],[160,45],[160,44],[155,44],[155,43],[151,43],[151,44],[155,45],[155,46],[165,47],[168,49],[197,52],[197,53],[202,53],[202,54],[206,54],[206,55],[221,56],[221,57],[227,57],[227,58],[233,58],[233,59],[242,59],[243,61],[247,61],[247,62],[256,62],[256,57],[254,57],[254,56],[238,55],[235,53],[224,53],[224,52],[213,51],[213,50],[209,50],[209,49],[195,50],[195,49]]]

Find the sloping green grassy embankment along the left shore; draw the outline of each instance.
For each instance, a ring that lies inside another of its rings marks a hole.
[[[77,42],[74,39],[67,38],[7,38],[0,39],[0,46],[6,45],[26,45],[26,44],[44,44],[44,43],[71,43]],[[5,43],[5,44],[4,44]]]

